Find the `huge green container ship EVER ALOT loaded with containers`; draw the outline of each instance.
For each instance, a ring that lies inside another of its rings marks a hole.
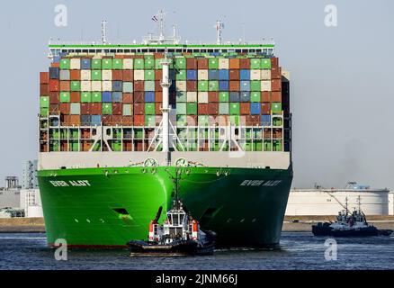
[[[221,27],[214,44],[160,29],[114,45],[105,23],[99,44],[49,43],[38,125],[49,246],[146,239],[175,182],[219,246],[279,243],[292,180],[289,74],[273,41],[224,43]]]

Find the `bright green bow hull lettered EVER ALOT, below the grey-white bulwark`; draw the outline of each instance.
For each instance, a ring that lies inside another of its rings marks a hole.
[[[292,169],[119,167],[39,171],[47,240],[69,247],[124,247],[147,239],[159,206],[171,205],[176,169],[179,196],[219,246],[279,243]],[[164,220],[164,215],[160,220]]]

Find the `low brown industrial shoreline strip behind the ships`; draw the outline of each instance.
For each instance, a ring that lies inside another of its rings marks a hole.
[[[282,231],[308,232],[311,225],[318,221],[334,220],[336,216],[286,216]],[[295,222],[294,222],[295,220]],[[368,220],[378,229],[394,229],[393,215],[373,215]],[[43,218],[0,219],[0,233],[45,233]]]

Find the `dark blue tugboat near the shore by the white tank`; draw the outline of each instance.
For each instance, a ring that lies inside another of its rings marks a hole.
[[[345,210],[338,212],[336,221],[334,223],[318,222],[317,225],[312,225],[313,235],[332,237],[390,236],[393,232],[391,229],[377,229],[368,224],[365,214],[361,211],[360,196],[358,205],[358,211],[354,209],[353,213],[349,213],[346,197]]]

